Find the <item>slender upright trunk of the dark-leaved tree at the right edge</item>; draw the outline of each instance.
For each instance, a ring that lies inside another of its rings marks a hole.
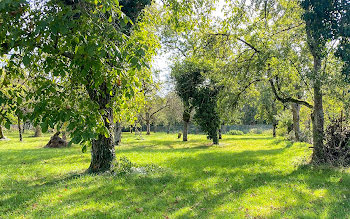
[[[312,161],[315,163],[325,162],[324,145],[323,145],[323,132],[324,132],[324,113],[322,103],[322,82],[321,82],[321,59],[314,56],[314,71],[315,81],[313,84],[314,89],[314,111],[312,115],[313,125],[313,154]]]

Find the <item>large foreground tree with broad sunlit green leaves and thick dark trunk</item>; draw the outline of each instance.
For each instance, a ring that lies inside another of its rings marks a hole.
[[[112,168],[115,105],[133,96],[140,87],[138,78],[148,77],[139,70],[154,54],[155,38],[147,28],[131,23],[138,21],[149,3],[0,3],[0,53],[10,54],[6,68],[23,65],[38,69],[40,74],[33,77],[37,85],[34,97],[40,101],[33,107],[33,115],[43,115],[43,131],[68,121],[71,142],[92,145],[89,172]],[[67,105],[66,100],[76,104]],[[54,111],[51,106],[66,109]]]

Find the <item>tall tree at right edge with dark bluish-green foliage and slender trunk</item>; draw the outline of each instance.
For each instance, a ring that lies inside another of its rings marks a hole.
[[[327,56],[327,41],[341,39],[339,51],[349,47],[350,34],[346,31],[348,28],[348,18],[350,3],[348,1],[312,1],[303,0],[301,2],[304,14],[303,19],[306,23],[307,43],[313,57],[313,92],[314,109],[313,119],[313,156],[315,163],[324,163],[324,111],[323,111],[323,77],[324,70],[322,62]],[[345,45],[344,45],[345,44]],[[339,52],[343,54],[342,52]],[[347,56],[341,55],[346,59]],[[348,60],[347,60],[348,61]],[[348,63],[345,63],[345,69]]]

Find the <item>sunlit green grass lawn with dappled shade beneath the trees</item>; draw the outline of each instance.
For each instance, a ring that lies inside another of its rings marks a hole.
[[[124,134],[117,156],[164,170],[82,174],[89,153],[49,136],[0,142],[0,218],[350,218],[349,169],[303,165],[309,145],[264,135]]]

